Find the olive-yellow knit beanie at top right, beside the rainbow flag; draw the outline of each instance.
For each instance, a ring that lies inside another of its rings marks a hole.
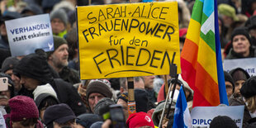
[[[238,17],[235,14],[235,8],[231,7],[229,4],[222,3],[218,6],[218,13],[220,15],[225,15],[231,17],[234,21],[238,21]]]

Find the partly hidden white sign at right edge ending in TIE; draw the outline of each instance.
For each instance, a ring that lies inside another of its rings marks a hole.
[[[250,76],[256,75],[256,58],[249,59],[225,59],[223,62],[224,70],[230,72],[231,69],[242,68]]]

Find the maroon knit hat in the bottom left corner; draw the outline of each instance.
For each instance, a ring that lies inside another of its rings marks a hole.
[[[11,107],[11,121],[22,121],[39,117],[36,103],[31,97],[12,97],[9,101],[9,106]]]

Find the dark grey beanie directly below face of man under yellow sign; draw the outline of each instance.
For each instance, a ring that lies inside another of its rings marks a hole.
[[[109,111],[109,106],[116,104],[114,101],[111,100],[109,97],[103,97],[101,100],[97,102],[94,107],[93,113],[99,116],[102,116],[106,112]]]

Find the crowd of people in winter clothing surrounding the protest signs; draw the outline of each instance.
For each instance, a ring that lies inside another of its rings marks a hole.
[[[129,4],[129,1],[90,3]],[[194,3],[194,0],[178,0],[181,51]],[[133,114],[128,112],[126,78],[79,78],[75,6],[88,4],[88,0],[0,1],[0,128],[172,127],[180,88],[184,90],[187,107],[192,110],[193,91],[180,76],[176,88],[173,88],[174,78],[167,77],[165,83],[164,76],[135,77],[136,113]],[[50,14],[55,50],[39,49],[30,55],[12,57],[5,21],[44,13]],[[254,58],[256,0],[218,0],[218,14],[222,58]],[[224,71],[225,88],[230,106],[244,105],[243,127],[256,127],[256,77],[243,68]],[[165,84],[172,87],[171,92],[176,91],[173,102],[168,102],[169,113],[164,113],[160,121],[165,100],[169,99]],[[228,116],[216,116],[210,127],[237,126]]]

